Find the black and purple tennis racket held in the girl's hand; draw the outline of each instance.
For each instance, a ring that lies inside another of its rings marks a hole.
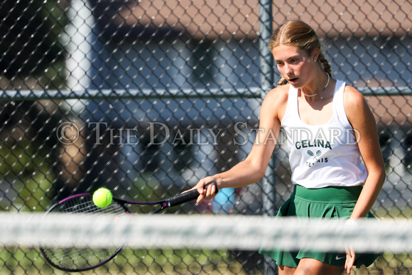
[[[218,190],[216,183],[209,183],[205,185],[205,189],[210,184],[215,185],[215,193],[217,193]],[[82,193],[71,195],[70,197],[60,200],[60,202],[55,203],[55,205],[50,207],[46,214],[50,212],[65,212],[80,215],[104,214],[117,216],[124,213],[129,214],[129,209],[126,207],[127,204],[160,205],[160,207],[150,213],[150,215],[152,215],[165,208],[187,203],[190,200],[195,200],[198,195],[199,193],[197,190],[190,190],[188,192],[167,198],[166,200],[158,200],[155,202],[136,202],[113,198],[112,203],[109,206],[97,207],[97,205],[94,205],[93,203],[92,193]],[[40,247],[41,253],[50,265],[68,272],[86,271],[102,266],[116,257],[116,255],[121,252],[121,249],[122,247],[115,247],[112,249],[101,249],[94,247]]]

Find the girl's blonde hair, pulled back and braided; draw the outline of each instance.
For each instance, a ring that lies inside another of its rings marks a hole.
[[[304,50],[308,55],[313,49],[318,48],[320,52],[318,64],[328,75],[332,76],[330,64],[322,53],[318,35],[307,23],[300,20],[291,20],[276,28],[269,43],[269,50],[272,51],[278,45],[294,45],[300,50]],[[285,83],[285,78],[281,75],[278,85]]]

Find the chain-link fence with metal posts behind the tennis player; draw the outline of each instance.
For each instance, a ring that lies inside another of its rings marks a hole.
[[[231,168],[251,149],[259,105],[278,77],[266,48],[271,30],[301,18],[322,38],[334,77],[361,90],[376,117],[388,176],[374,214],[409,219],[411,8],[383,0],[1,1],[0,209],[44,212],[100,186],[156,200]],[[259,183],[172,211],[273,215],[291,193],[290,177],[280,143]],[[38,249],[1,248],[0,265],[0,274],[58,273]],[[384,254],[353,272],[411,268],[409,254]],[[153,249],[126,250],[100,274],[273,270],[253,251]]]

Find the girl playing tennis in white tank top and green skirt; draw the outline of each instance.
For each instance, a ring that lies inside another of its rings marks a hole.
[[[269,48],[281,79],[261,106],[259,131],[247,158],[229,171],[197,183],[197,203],[219,189],[255,183],[266,171],[281,127],[288,136],[294,190],[278,216],[342,218],[355,222],[371,212],[384,184],[376,122],[362,94],[332,77],[318,36],[293,20],[274,31]],[[275,137],[273,139],[273,136]],[[362,163],[362,161],[363,163]],[[369,266],[378,255],[324,252],[261,252],[279,274],[342,274]]]

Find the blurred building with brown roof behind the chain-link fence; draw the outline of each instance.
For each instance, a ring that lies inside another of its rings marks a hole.
[[[318,31],[335,78],[362,87],[364,92],[374,91],[368,87],[408,87],[412,79],[408,70],[412,55],[408,16],[411,4],[360,0],[274,2],[275,26],[286,19],[300,18]],[[123,171],[119,178],[109,170],[107,175],[94,176],[105,180],[109,176],[127,186],[134,178],[131,171],[144,170],[153,163],[159,181],[173,179],[173,184],[193,185],[198,178],[228,168],[246,156],[253,141],[244,146],[225,141],[219,148],[222,140],[212,142],[213,136],[209,135],[202,145],[192,144],[188,149],[183,139],[180,144],[161,143],[166,135],[161,127],[155,130],[160,134],[153,142],[149,130],[153,122],[158,126],[167,124],[174,131],[210,127],[230,131],[236,122],[245,121],[251,128],[256,126],[260,94],[266,92],[261,91],[265,76],[261,75],[260,63],[259,1],[76,0],[72,8],[76,15],[72,58],[67,63],[72,76],[70,89],[146,90],[151,95],[163,95],[163,99],[125,97],[73,105],[94,134],[96,129],[90,127],[90,122],[107,123],[104,125],[116,129],[136,128],[139,132],[135,143],[119,146],[119,156],[127,156],[118,160],[119,171]],[[240,97],[195,99],[188,96],[193,91],[227,95],[237,92]],[[176,94],[185,96],[176,98]],[[408,96],[367,98],[378,120],[389,174],[402,178],[411,150]],[[148,145],[157,145],[160,151],[148,149]],[[278,161],[284,169],[277,173],[288,173],[282,149]],[[195,161],[193,167],[182,172],[175,169],[175,163],[183,151]],[[226,154],[218,158],[217,152],[222,151]],[[92,170],[102,171],[108,159],[101,158]],[[219,165],[215,165],[216,159],[220,159]]]

